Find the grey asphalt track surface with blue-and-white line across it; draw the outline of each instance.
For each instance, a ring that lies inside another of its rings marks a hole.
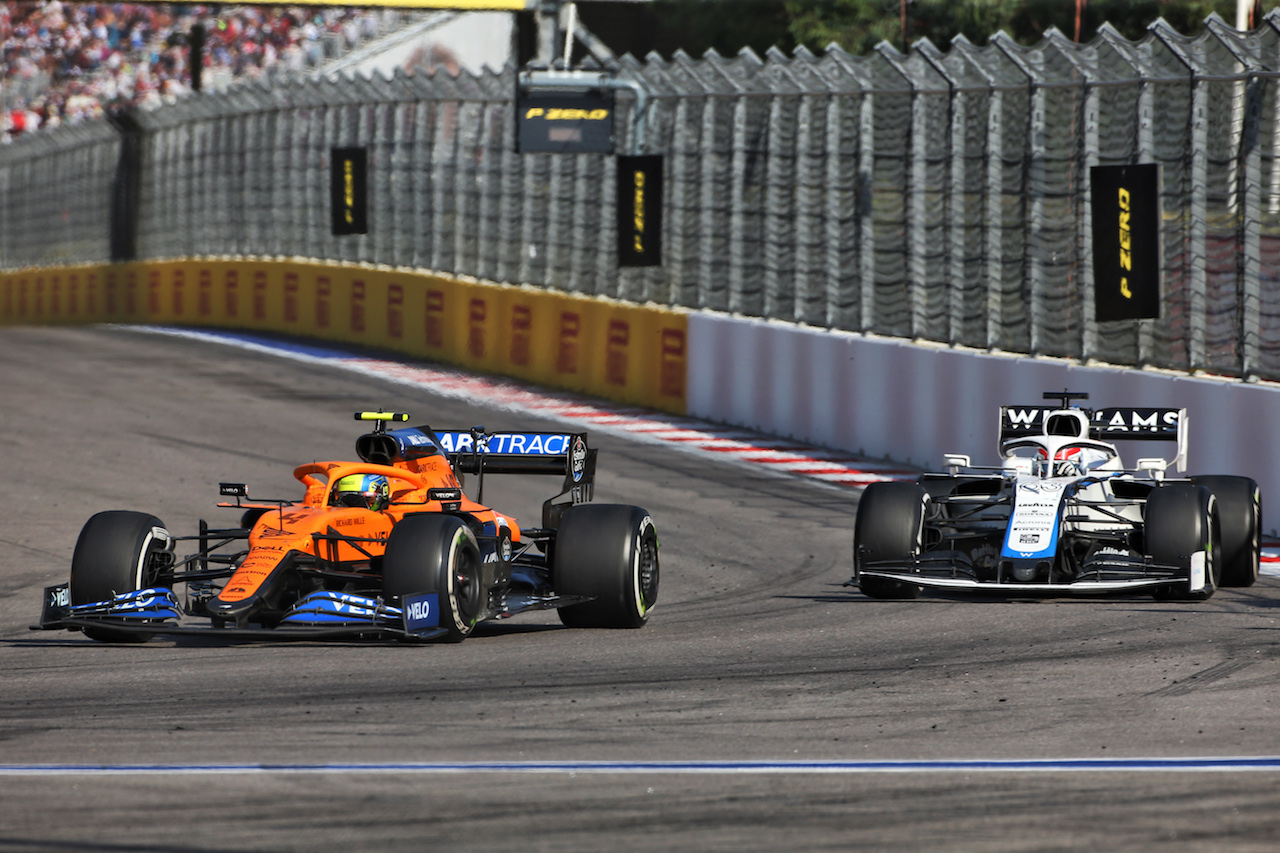
[[[553,612],[458,646],[28,630],[93,512],[188,533],[227,523],[219,482],[294,497],[293,467],[351,456],[369,407],[563,426],[211,342],[0,330],[0,853],[1280,838],[1275,578],[1189,605],[870,601],[842,587],[856,491],[609,433],[596,501],[660,534],[643,630]],[[554,485],[493,478],[485,498],[534,523]]]

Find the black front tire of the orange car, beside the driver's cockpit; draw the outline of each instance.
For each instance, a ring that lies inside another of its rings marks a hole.
[[[412,515],[397,524],[383,556],[383,594],[388,598],[435,593],[442,638],[461,643],[485,617],[489,590],[480,575],[480,547],[462,519]]]

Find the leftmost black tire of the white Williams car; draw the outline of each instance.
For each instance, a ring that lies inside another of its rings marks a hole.
[[[863,575],[868,564],[892,561],[905,566],[920,552],[928,492],[915,483],[872,483],[858,501],[854,521],[854,578],[869,598],[916,598],[920,588],[901,580]]]

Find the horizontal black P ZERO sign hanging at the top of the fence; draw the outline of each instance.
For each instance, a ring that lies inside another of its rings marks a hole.
[[[613,92],[516,95],[521,154],[613,154]]]

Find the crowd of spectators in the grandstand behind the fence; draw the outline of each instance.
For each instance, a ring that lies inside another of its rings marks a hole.
[[[367,9],[0,3],[0,142],[191,91],[187,40],[206,32],[201,87],[314,68],[378,33]]]

